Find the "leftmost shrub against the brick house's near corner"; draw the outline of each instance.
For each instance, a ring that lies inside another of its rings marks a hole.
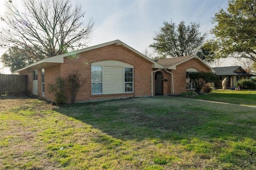
[[[56,82],[54,84],[49,84],[50,91],[55,96],[54,102],[58,105],[65,104],[66,96],[65,96],[65,82],[62,78],[56,78]]]

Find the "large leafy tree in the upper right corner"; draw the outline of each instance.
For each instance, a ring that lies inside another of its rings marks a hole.
[[[256,61],[256,0],[229,0],[212,21],[223,56]]]

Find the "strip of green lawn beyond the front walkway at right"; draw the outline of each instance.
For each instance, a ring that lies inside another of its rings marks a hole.
[[[208,95],[194,96],[194,99],[202,99],[216,102],[256,106],[256,91],[252,90],[212,90]]]

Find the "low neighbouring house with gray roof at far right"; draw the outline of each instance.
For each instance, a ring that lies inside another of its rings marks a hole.
[[[215,84],[218,88],[222,87],[222,80],[227,78],[227,88],[234,88],[236,82],[241,79],[250,79],[253,74],[248,74],[241,66],[228,66],[228,67],[214,67],[212,68],[216,71],[216,75],[219,76],[220,82]]]

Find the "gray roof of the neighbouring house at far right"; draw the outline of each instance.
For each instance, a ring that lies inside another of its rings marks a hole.
[[[213,67],[217,76],[255,76],[247,73],[241,66]]]

